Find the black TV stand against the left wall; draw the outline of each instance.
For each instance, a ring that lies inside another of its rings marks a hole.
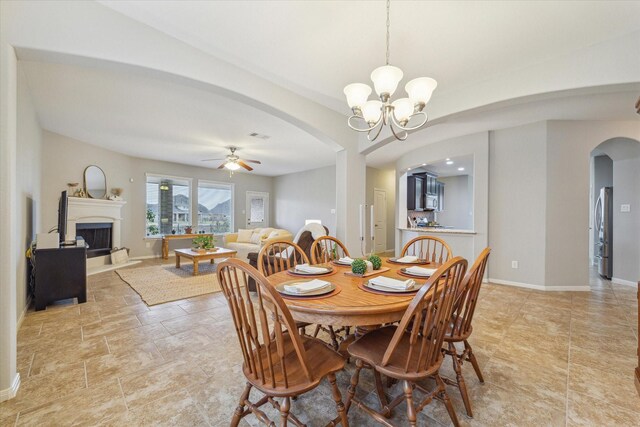
[[[87,248],[36,249],[31,258],[36,311],[58,300],[87,302]]]

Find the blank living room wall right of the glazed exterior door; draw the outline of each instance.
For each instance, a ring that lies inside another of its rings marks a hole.
[[[336,167],[312,169],[273,178],[274,226],[294,235],[305,219],[319,219],[335,236]]]

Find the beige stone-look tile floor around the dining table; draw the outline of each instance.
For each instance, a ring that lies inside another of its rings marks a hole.
[[[449,389],[463,425],[640,424],[632,377],[636,291],[595,276],[591,287],[590,293],[483,287],[471,343],[486,382],[464,367],[473,419]],[[88,289],[86,304],[24,319],[22,385],[15,399],[0,404],[1,426],[228,425],[244,380],[221,294],[149,308],[114,272],[90,277]],[[352,368],[339,375],[343,394]],[[451,375],[450,363],[442,371]],[[365,372],[360,393],[373,404],[371,381]],[[292,410],[317,426],[334,408],[323,384]],[[349,418],[354,426],[374,425],[355,407]],[[404,419],[400,406],[394,420]],[[419,414],[419,425],[449,424],[439,402]],[[249,416],[242,425],[258,422]]]

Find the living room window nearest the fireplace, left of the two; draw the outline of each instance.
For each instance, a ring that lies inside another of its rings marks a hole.
[[[191,180],[147,175],[146,235],[185,234],[191,225]]]

